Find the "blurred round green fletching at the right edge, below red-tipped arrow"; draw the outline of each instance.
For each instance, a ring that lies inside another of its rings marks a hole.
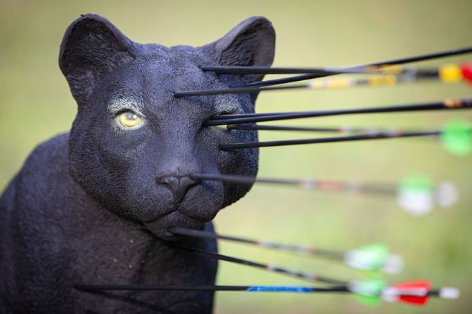
[[[472,126],[466,120],[451,120],[444,125],[441,141],[444,149],[457,156],[470,154],[472,150]]]

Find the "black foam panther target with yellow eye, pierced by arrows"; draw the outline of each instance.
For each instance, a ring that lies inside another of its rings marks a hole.
[[[67,28],[59,65],[78,104],[71,131],[39,145],[0,198],[0,313],[210,313],[210,292],[86,293],[74,284],[215,283],[215,261],[169,243],[176,226],[212,230],[221,208],[251,185],[190,174],[255,176],[255,131],[204,127],[215,114],[252,113],[257,93],[175,98],[262,75],[216,75],[201,66],[270,66],[275,33],[251,17],[198,48],[137,44],[107,19]],[[143,232],[147,228],[150,232]]]

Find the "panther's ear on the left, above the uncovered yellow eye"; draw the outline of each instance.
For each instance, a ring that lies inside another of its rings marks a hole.
[[[86,102],[100,78],[134,59],[134,43],[100,15],[82,15],[67,28],[59,67],[78,104]]]

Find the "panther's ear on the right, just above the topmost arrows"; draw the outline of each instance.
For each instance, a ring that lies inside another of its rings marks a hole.
[[[275,54],[275,30],[265,17],[249,17],[224,37],[208,45],[220,66],[271,66]],[[241,76],[243,83],[258,82],[264,75]]]

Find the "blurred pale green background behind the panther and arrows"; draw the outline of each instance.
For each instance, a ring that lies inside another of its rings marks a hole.
[[[460,48],[472,43],[471,1],[21,1],[0,2],[0,189],[20,169],[29,152],[67,131],[75,102],[57,67],[66,27],[81,13],[110,19],[141,43],[200,46],[224,35],[251,15],[264,15],[277,31],[275,66],[363,64],[389,58]],[[469,56],[471,57],[471,56]],[[423,62],[437,65],[466,57]],[[462,84],[421,83],[389,88],[264,93],[257,111],[298,111],[401,104],[470,96]],[[390,115],[305,119],[286,124],[440,127],[471,113],[392,113]],[[310,134],[260,133],[261,140]],[[399,181],[411,173],[453,181],[460,202],[412,217],[394,199],[323,194],[256,186],[220,212],[217,230],[323,248],[347,249],[382,241],[406,259],[391,283],[430,279],[434,286],[457,286],[456,301],[433,299],[425,308],[383,304],[365,308],[347,295],[217,293],[216,313],[463,313],[471,311],[471,157],[446,153],[436,140],[273,147],[261,150],[260,176]],[[255,261],[289,266],[346,279],[363,277],[323,260],[220,243],[220,250]],[[245,266],[222,262],[218,284],[306,284]]]

